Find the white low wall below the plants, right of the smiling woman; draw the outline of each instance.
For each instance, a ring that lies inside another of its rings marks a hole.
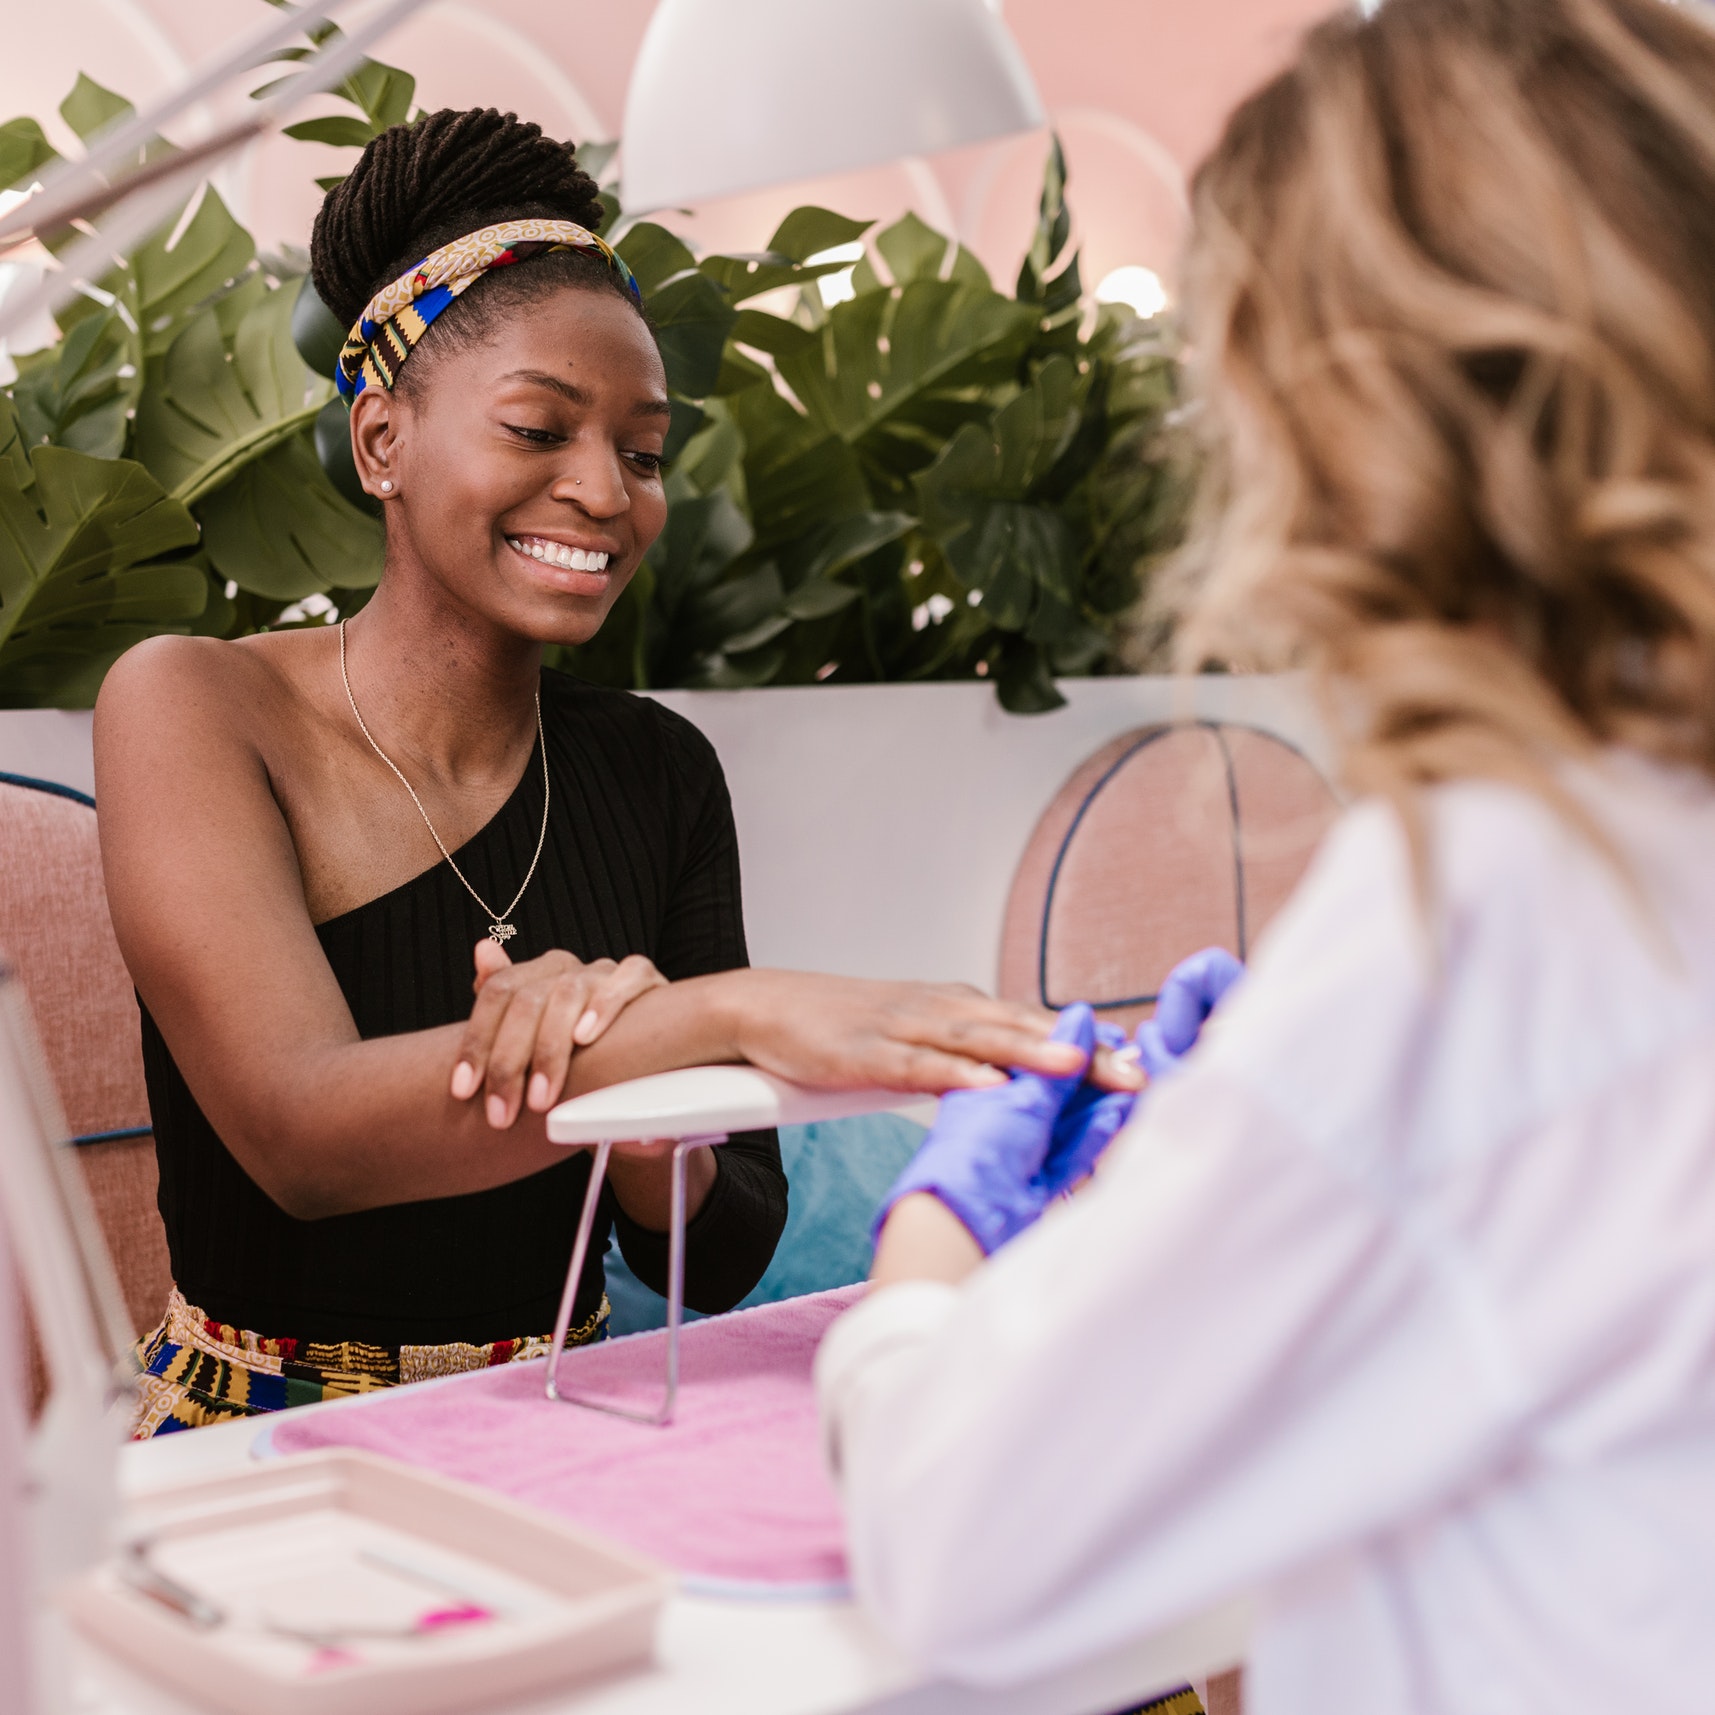
[[[1031,828],[1108,739],[1158,720],[1238,720],[1326,761],[1297,681],[1070,679],[1060,689],[1065,708],[1022,717],[986,684],[657,693],[708,734],[725,767],[751,960],[993,990]]]

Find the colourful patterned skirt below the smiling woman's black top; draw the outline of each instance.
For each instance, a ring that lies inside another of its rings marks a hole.
[[[568,1346],[588,1346],[607,1336],[609,1305],[566,1334]],[[214,1322],[177,1290],[153,1334],[132,1348],[137,1365],[134,1441],[180,1429],[261,1417],[293,1405],[316,1405],[346,1394],[398,1387],[430,1375],[460,1375],[494,1363],[544,1358],[552,1336],[496,1339],[487,1346],[370,1346],[358,1339],[271,1339]]]

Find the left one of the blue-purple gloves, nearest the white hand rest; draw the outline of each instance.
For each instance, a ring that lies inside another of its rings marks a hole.
[[[1089,1007],[1067,1007],[1050,1039],[1075,1043],[1089,1055],[1096,1046],[1094,1014]],[[993,1255],[1074,1176],[1082,1176],[1072,1173],[1082,1158],[1072,1139],[1058,1159],[1055,1151],[1058,1122],[1082,1089],[1082,1070],[1067,1077],[1014,1072],[1005,1084],[943,1096],[933,1130],[887,1194],[875,1233],[900,1197],[926,1190],[959,1216],[984,1255]]]

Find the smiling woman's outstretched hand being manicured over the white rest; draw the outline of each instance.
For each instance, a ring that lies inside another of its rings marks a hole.
[[[1086,1055],[1050,1041],[1055,1014],[945,983],[873,983],[799,971],[744,971],[734,993],[739,1055],[820,1089],[942,1094],[1005,1080],[1002,1067],[1048,1077],[1082,1072]],[[1089,1072],[1104,1089],[1135,1091],[1130,1060],[1098,1050]]]

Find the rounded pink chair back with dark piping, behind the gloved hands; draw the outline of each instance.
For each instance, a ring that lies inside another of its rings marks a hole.
[[[1199,947],[1240,959],[1338,811],[1314,765],[1250,727],[1139,727],[1043,811],[1007,902],[1000,991],[1087,1000],[1130,1029]]]

